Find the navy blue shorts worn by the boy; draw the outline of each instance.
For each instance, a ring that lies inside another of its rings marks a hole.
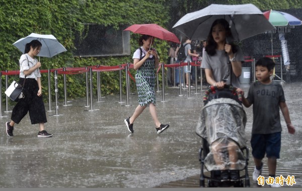
[[[270,134],[252,134],[251,138],[252,154],[257,159],[280,158],[281,132]]]

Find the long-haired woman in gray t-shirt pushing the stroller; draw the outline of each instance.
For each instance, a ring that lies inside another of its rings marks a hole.
[[[233,39],[229,23],[224,19],[215,20],[208,35],[201,67],[205,69],[206,81],[218,88],[224,84],[240,87],[244,57],[240,47],[228,42],[228,39]]]

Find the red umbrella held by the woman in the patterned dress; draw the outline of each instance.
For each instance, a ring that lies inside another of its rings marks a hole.
[[[171,33],[167,29],[162,28],[157,24],[134,24],[125,29],[124,31],[131,31],[133,33],[141,34],[141,35],[149,35],[152,37],[156,37],[162,40],[175,42],[180,44],[180,41],[176,37],[174,33]]]

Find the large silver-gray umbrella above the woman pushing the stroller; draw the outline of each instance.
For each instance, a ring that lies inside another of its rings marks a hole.
[[[186,14],[173,26],[173,29],[177,29],[191,40],[204,40],[216,19],[230,22],[235,41],[242,41],[275,29],[253,4],[212,4],[202,10]]]

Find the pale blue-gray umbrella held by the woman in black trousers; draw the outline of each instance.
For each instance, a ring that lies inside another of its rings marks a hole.
[[[53,35],[40,35],[36,33],[32,33],[25,38],[19,39],[13,45],[24,53],[25,45],[32,40],[38,40],[42,44],[41,50],[37,55],[39,57],[51,58],[61,52],[67,51]]]

